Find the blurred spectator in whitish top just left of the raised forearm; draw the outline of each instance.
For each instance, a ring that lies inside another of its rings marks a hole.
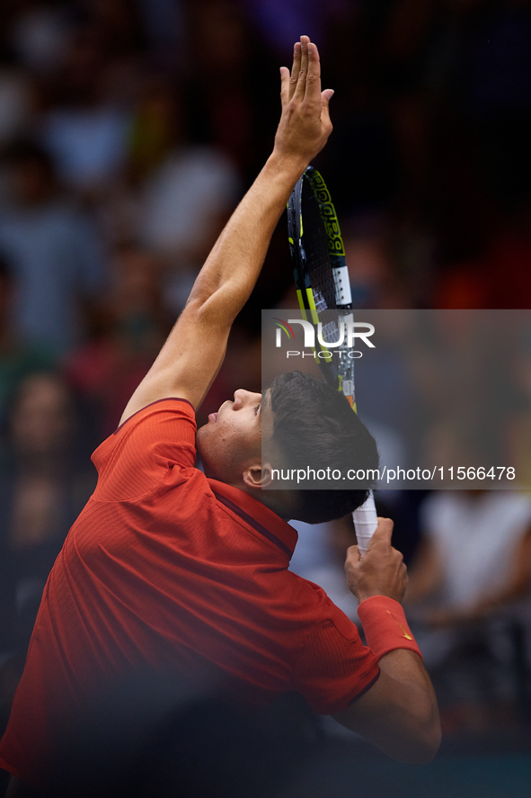
[[[136,130],[137,165],[155,162],[142,191],[138,232],[170,266],[170,302],[180,310],[235,207],[239,175],[217,148],[187,140],[181,100],[168,88],[154,87],[137,116]]]

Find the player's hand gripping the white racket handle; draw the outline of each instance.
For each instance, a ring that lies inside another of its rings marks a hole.
[[[389,596],[402,602],[408,583],[403,556],[391,545],[393,521],[378,518],[367,552],[359,557],[358,546],[347,551],[345,570],[350,592],[359,602],[369,596]]]

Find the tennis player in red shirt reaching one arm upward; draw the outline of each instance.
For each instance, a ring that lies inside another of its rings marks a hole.
[[[270,481],[262,439],[288,459],[282,430],[300,429],[301,445],[312,435],[317,456],[332,435],[321,417],[341,412],[337,402],[346,400],[319,381],[289,376],[263,398],[236,390],[196,436],[194,410],[223,362],[272,231],[332,131],[332,91],[321,90],[308,37],[295,45],[291,72],[280,71],[272,154],[119,428],[93,453],[98,485],[49,576],[0,744],[0,766],[13,776],[9,795],[28,785],[44,791],[59,730],[75,728],[102,684],[135,669],[186,678],[194,688],[214,684],[235,704],[260,706],[295,690],[314,712],[393,758],[423,762],[438,749],[437,704],[403,614],[407,574],[391,546],[392,522],[380,519],[362,559],[356,546],[348,551],[364,646],[321,588],[288,571],[296,532],[287,519],[342,516],[366,491],[301,499],[261,489]],[[327,451],[344,459],[346,441],[349,459],[358,442],[376,456],[350,408],[346,417],[352,426]],[[204,472],[194,467],[196,451]]]

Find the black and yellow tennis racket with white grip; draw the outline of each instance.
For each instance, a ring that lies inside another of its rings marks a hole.
[[[338,341],[338,325],[341,325],[341,321],[347,325],[354,320],[349,270],[330,192],[323,177],[312,166],[307,167],[289,198],[288,240],[296,295],[303,318],[312,321],[315,326],[321,320],[320,315],[327,318],[326,324],[323,324],[323,340]],[[323,315],[326,310],[339,312],[333,314],[333,319],[330,320],[332,314]],[[334,319],[337,319],[337,323]],[[339,352],[341,348],[349,348],[346,336],[343,344],[336,347],[335,351]],[[321,354],[324,352],[325,350]],[[341,390],[350,407],[357,412],[354,360],[344,355],[335,358],[323,356],[318,361],[323,379],[333,388]],[[365,554],[377,525],[372,491],[365,504],[358,507],[352,516],[359,552]]]

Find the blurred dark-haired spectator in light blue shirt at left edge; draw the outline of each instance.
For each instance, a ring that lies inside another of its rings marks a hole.
[[[13,326],[23,344],[59,356],[80,335],[79,301],[102,287],[100,242],[87,216],[58,193],[39,147],[13,145],[11,202],[0,211],[0,247],[13,268]]]

